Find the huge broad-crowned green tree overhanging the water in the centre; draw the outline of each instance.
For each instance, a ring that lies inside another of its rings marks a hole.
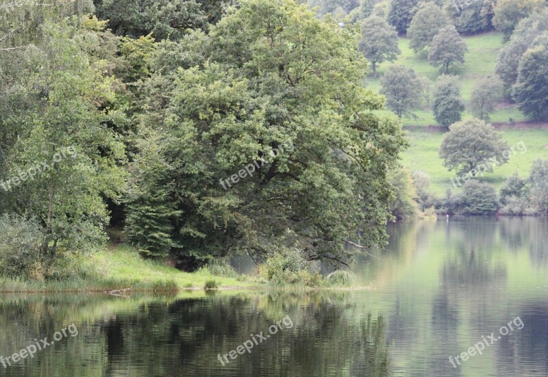
[[[384,242],[386,172],[406,143],[371,113],[383,101],[362,87],[359,38],[293,1],[247,0],[208,36],[184,38],[190,57],[167,51],[146,84],[129,196],[154,226],[134,242],[181,265],[282,244],[340,259],[356,232]]]

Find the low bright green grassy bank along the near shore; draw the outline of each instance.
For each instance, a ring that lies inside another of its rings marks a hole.
[[[98,252],[75,257],[75,263],[88,272],[82,279],[63,281],[21,281],[0,279],[0,292],[108,292],[177,291],[203,289],[206,282],[214,281],[219,289],[242,289],[258,285],[249,276],[225,277],[208,270],[182,272],[168,265],[142,259],[136,250],[127,245],[103,248]]]

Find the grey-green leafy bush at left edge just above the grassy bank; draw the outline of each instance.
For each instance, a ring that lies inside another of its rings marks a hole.
[[[40,265],[42,239],[42,228],[37,220],[23,216],[1,216],[0,274],[40,278],[43,275]]]

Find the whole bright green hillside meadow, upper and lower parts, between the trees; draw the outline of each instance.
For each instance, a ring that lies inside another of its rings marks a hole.
[[[503,46],[502,34],[488,33],[478,36],[469,36],[464,38],[468,45],[466,53],[466,62],[462,66],[453,68],[453,75],[460,77],[460,90],[464,103],[467,105],[470,101],[471,92],[477,79],[486,75],[495,73],[497,64],[497,54]],[[432,88],[440,70],[428,64],[425,57],[417,56],[409,48],[409,39],[400,38],[399,48],[401,55],[397,61],[390,63],[384,62],[379,65],[377,73],[382,75],[390,64],[401,64],[410,66],[415,73],[421,77],[426,77],[432,83]],[[368,77],[366,86],[375,91],[379,91],[379,77]],[[432,101],[432,96],[430,96]],[[390,114],[390,112],[384,112]],[[453,190],[450,179],[455,176],[454,172],[449,172],[443,166],[443,161],[438,157],[438,150],[443,139],[443,132],[427,131],[426,127],[435,126],[434,114],[429,108],[415,110],[413,116],[404,116],[402,119],[403,127],[412,127],[408,131],[410,148],[403,155],[403,166],[414,170],[422,170],[429,175],[432,186],[432,192],[444,194],[447,188]],[[469,112],[463,114],[463,119],[472,118]],[[514,122],[527,120],[516,105],[499,104],[497,110],[491,114],[491,121],[495,123],[506,124],[502,131],[503,138],[510,146],[523,141],[527,147],[526,153],[516,153],[510,158],[510,162],[504,166],[495,168],[495,172],[485,174],[482,181],[491,183],[499,188],[501,183],[514,171],[518,171],[522,177],[529,174],[532,162],[539,158],[548,158],[548,129],[511,129]],[[420,127],[425,127],[422,131]],[[510,129],[508,129],[510,128]],[[460,190],[456,190],[460,191]]]

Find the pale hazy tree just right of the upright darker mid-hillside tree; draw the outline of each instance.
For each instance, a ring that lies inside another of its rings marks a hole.
[[[490,120],[489,114],[501,98],[502,83],[497,77],[487,76],[477,81],[470,96],[469,110],[478,119]]]

